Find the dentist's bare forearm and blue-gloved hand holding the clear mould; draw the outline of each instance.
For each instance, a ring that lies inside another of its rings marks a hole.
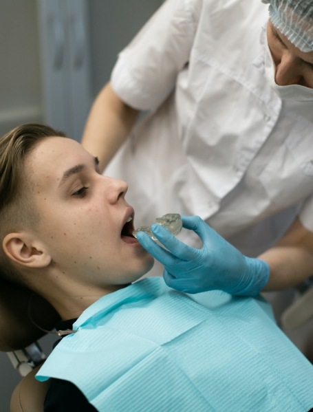
[[[142,246],[164,265],[164,280],[171,288],[254,296],[261,290],[290,288],[313,273],[313,234],[299,221],[259,259],[241,254],[199,217],[182,217],[182,222],[202,239],[201,249],[187,246],[160,225],[151,228],[167,250],[143,232],[137,234]]]

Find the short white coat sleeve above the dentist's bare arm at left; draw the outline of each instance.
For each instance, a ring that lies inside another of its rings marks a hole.
[[[131,107],[156,109],[188,64],[202,0],[167,0],[120,52],[111,86]]]

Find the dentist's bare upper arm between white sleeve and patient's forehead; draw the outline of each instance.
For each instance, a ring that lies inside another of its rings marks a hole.
[[[109,83],[96,97],[81,143],[89,153],[98,157],[100,171],[127,139],[138,113],[120,100]]]

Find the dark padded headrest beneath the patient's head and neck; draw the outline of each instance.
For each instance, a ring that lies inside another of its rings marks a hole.
[[[0,351],[14,351],[32,344],[45,335],[28,316],[31,299],[32,318],[50,330],[60,316],[45,299],[27,288],[0,281]]]

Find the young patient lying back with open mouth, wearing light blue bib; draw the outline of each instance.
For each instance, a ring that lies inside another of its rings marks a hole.
[[[1,270],[70,329],[45,411],[308,411],[313,367],[261,299],[184,294],[131,235],[127,184],[39,124],[0,138]]]

